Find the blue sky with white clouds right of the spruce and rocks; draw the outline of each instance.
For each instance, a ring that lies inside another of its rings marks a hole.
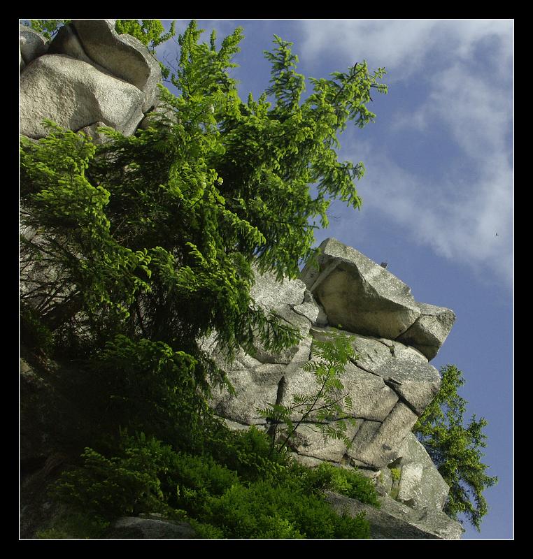
[[[187,23],[177,20],[178,33]],[[317,242],[335,237],[388,261],[416,300],[455,311],[432,365],[462,370],[467,419],[488,420],[483,461],[499,477],[481,534],[465,523],[463,538],[512,538],[513,20],[199,20],[205,41],[237,26],[243,99],[268,87],[273,34],[294,43],[306,76],[363,59],[386,68],[389,93],[369,105],[376,122],[341,136],[341,159],[367,168],[362,208],[332,204]],[[159,59],[176,52],[169,41]]]

